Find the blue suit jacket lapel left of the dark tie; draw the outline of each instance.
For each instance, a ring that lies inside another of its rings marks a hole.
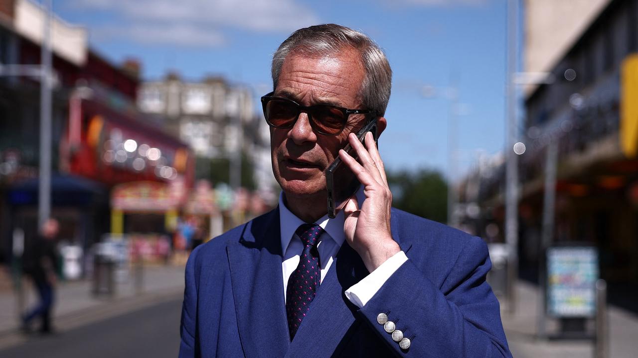
[[[239,337],[246,357],[282,357],[288,350],[279,210],[249,222],[226,247]]]

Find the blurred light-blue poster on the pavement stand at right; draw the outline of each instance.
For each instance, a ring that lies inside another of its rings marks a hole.
[[[553,317],[594,317],[598,251],[595,247],[547,249],[547,313]]]

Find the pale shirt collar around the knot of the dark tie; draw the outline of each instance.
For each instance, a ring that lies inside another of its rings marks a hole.
[[[363,186],[359,187],[356,195],[360,208],[361,204],[366,199],[363,193]],[[341,247],[343,241],[346,239],[345,233],[343,233],[344,220],[343,210],[341,210],[335,218],[329,218],[326,213],[319,220],[316,220],[315,224],[322,227],[330,238],[332,238],[332,240]],[[288,248],[288,245],[290,245],[292,236],[301,224],[305,224],[304,220],[301,220],[297,217],[297,215],[293,214],[292,211],[288,210],[284,201],[284,192],[282,191],[281,194],[279,194],[279,227],[281,229],[281,252],[283,254],[286,253],[286,249]]]

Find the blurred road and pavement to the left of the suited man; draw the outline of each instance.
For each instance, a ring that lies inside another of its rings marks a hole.
[[[179,345],[183,276],[181,265],[146,267],[141,292],[138,293],[129,280],[117,283],[112,297],[93,296],[90,280],[61,283],[53,320],[56,333],[50,336],[20,333],[15,313],[16,296],[11,290],[3,290],[0,292],[0,357],[41,356],[37,352],[55,352],[56,355],[47,355],[50,357],[84,357],[82,352],[89,350],[92,356],[123,357],[140,348],[149,354],[157,349],[168,354],[167,357],[174,357]],[[30,289],[31,285],[27,287]],[[31,293],[27,295],[29,303],[34,301]],[[138,348],[129,346],[134,343]],[[100,347],[121,350],[118,353],[98,349]]]

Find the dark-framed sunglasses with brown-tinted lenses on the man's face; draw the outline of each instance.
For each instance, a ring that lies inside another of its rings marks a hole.
[[[269,94],[262,97],[263,116],[268,125],[274,128],[292,128],[299,118],[299,113],[305,112],[314,131],[326,136],[336,136],[346,127],[350,115],[374,115],[375,111],[348,110],[328,104],[302,106],[290,99],[273,97]]]

